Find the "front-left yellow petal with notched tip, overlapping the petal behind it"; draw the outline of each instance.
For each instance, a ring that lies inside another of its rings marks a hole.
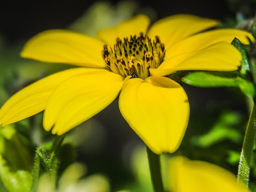
[[[128,77],[130,78],[130,76]],[[73,76],[52,93],[44,111],[44,129],[63,134],[106,108],[118,95],[124,77],[109,71]]]

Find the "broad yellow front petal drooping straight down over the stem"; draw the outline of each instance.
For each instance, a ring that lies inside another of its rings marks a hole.
[[[120,93],[119,109],[154,153],[173,153],[180,146],[189,116],[180,84],[161,76],[129,79]]]

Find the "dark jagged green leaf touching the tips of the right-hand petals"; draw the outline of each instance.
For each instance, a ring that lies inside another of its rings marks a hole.
[[[241,41],[239,41],[239,39],[237,39],[236,37],[232,41],[231,44],[234,45],[239,50],[239,52],[242,54],[240,72],[242,74],[246,74],[247,71],[250,71],[250,67],[249,67],[249,62],[248,62],[248,58],[247,58],[247,55],[246,55],[245,45],[242,44]]]

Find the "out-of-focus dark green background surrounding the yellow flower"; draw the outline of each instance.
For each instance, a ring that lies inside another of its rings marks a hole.
[[[19,57],[24,43],[41,31],[62,28],[96,36],[98,30],[138,13],[147,14],[152,22],[188,13],[221,20],[223,27],[236,27],[253,18],[255,8],[255,0],[1,2],[0,106],[26,85],[72,67]],[[197,88],[185,84],[183,87],[190,102],[190,119],[181,146],[172,155],[208,161],[236,174],[251,99],[239,88]],[[42,113],[8,129],[17,132],[31,160],[37,145],[47,146],[54,138],[42,127]],[[161,156],[164,175],[172,155]],[[253,158],[255,162],[256,156]],[[118,102],[68,132],[61,159],[59,191],[67,188],[65,183],[68,185],[70,174],[75,178],[72,185],[88,191],[152,191],[145,146],[121,116]],[[74,162],[79,163],[72,164]],[[32,166],[33,163],[28,165]],[[252,191],[256,191],[253,180],[256,180],[256,164],[253,164],[250,184]],[[47,180],[42,177],[40,182],[45,187]]]

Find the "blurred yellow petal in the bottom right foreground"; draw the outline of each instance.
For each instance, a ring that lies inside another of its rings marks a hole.
[[[203,161],[174,157],[170,161],[169,190],[175,192],[246,192],[237,185],[236,176]],[[248,191],[249,192],[249,191]]]

